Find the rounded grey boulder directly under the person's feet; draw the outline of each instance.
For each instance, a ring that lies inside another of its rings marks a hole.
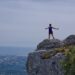
[[[62,42],[58,39],[45,39],[37,45],[37,50],[49,50],[52,48],[59,48],[62,46]]]

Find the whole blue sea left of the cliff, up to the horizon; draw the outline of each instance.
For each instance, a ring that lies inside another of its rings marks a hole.
[[[0,47],[0,75],[27,75],[26,61],[31,47]]]

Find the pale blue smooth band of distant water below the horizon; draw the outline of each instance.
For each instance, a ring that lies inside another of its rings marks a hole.
[[[0,55],[27,56],[34,50],[35,48],[32,47],[0,47]]]

